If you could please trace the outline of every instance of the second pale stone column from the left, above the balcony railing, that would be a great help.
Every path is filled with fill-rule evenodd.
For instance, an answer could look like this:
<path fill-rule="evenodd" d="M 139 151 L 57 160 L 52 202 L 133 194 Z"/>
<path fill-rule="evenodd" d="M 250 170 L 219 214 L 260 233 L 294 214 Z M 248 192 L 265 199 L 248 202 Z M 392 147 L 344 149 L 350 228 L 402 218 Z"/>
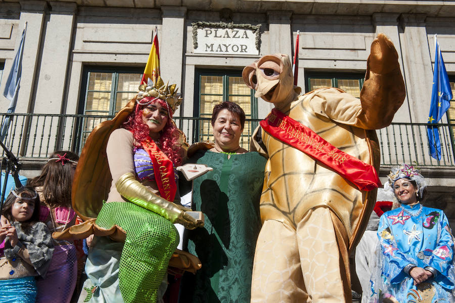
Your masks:
<path fill-rule="evenodd" d="M 65 113 L 65 84 L 77 6 L 53 1 L 51 7 L 33 112 L 60 114 Z"/>

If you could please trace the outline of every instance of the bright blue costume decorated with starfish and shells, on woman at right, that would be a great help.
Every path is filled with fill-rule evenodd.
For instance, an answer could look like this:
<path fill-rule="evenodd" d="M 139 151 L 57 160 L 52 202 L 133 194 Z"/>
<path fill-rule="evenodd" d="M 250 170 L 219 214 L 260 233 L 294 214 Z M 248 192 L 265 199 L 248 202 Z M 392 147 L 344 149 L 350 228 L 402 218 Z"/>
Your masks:
<path fill-rule="evenodd" d="M 453 238 L 442 210 L 420 203 L 385 212 L 379 223 L 378 263 L 370 302 L 453 302 Z M 405 267 L 431 267 L 436 277 L 415 286 Z M 408 266 L 408 268 L 411 266 Z"/>

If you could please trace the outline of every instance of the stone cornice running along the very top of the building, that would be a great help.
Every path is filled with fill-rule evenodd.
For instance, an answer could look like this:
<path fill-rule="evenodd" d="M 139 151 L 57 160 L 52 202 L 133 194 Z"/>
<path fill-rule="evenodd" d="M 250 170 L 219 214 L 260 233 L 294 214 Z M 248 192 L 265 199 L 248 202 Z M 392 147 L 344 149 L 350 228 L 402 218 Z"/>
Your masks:
<path fill-rule="evenodd" d="M 9 3 L 36 3 L 39 1 L 8 0 Z M 426 14 L 429 17 L 455 16 L 455 1 L 428 1 L 428 0 L 237 0 L 237 1 L 201 1 L 201 0 L 65 0 L 75 3 L 78 7 L 91 8 L 133 8 L 133 9 L 161 9 L 173 5 L 185 7 L 190 11 L 219 11 L 230 9 L 233 13 L 267 13 L 272 11 L 288 11 L 303 15 L 337 15 L 337 16 L 372 16 L 374 13 L 397 14 Z M 50 3 L 48 0 L 47 3 Z M 33 5 L 31 5 L 33 6 Z M 36 9 L 35 9 L 36 10 Z M 283 20 L 282 20 L 283 22 Z"/>

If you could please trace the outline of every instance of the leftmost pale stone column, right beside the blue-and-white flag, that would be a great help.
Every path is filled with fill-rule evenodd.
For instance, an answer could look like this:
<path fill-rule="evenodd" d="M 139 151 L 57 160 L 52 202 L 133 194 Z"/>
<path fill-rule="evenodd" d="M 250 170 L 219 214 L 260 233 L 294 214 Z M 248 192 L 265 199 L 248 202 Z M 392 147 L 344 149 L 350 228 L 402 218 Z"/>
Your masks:
<path fill-rule="evenodd" d="M 25 22 L 27 22 L 27 31 L 25 33 L 24 53 L 22 57 L 21 88 L 19 89 L 16 112 L 25 113 L 33 111 L 33 101 L 35 100 L 33 92 L 38 74 L 38 56 L 47 4 L 45 1 L 21 1 L 20 5 L 19 35 L 22 33 Z M 19 35 L 15 52 L 20 42 Z"/>

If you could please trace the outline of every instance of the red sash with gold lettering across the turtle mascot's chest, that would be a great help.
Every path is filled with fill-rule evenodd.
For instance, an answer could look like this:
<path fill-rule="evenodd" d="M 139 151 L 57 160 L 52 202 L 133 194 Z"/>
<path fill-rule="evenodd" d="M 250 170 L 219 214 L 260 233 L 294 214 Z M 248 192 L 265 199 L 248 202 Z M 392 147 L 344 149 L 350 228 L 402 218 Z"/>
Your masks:
<path fill-rule="evenodd" d="M 272 109 L 260 124 L 265 132 L 330 167 L 359 190 L 369 191 L 382 186 L 372 165 L 339 150 L 310 128 L 277 109 Z"/>

